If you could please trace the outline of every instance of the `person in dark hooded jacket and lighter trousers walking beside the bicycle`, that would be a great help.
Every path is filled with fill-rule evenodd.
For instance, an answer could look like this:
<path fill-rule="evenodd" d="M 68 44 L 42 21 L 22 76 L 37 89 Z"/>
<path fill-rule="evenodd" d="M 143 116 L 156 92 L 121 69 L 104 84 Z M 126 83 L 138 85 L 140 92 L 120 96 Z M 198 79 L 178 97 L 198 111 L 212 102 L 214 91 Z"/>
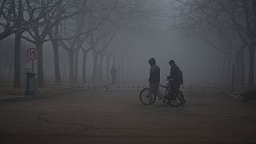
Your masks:
<path fill-rule="evenodd" d="M 160 82 L 160 68 L 156 64 L 154 58 L 150 58 L 149 60 L 150 64 L 150 90 L 149 90 L 149 98 L 150 103 L 149 106 L 153 106 L 153 94 L 156 94 L 159 98 L 162 99 L 162 102 L 164 103 L 164 106 L 166 105 L 166 98 L 162 95 L 162 93 L 159 90 L 159 82 Z"/>

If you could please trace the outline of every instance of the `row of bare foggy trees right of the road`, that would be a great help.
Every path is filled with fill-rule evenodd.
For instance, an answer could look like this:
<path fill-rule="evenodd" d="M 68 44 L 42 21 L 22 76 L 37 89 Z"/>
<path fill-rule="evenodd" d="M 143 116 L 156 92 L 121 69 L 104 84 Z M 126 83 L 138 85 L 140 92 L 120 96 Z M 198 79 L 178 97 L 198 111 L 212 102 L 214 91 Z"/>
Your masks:
<path fill-rule="evenodd" d="M 178 28 L 192 32 L 226 58 L 226 78 L 233 69 L 232 84 L 254 86 L 256 48 L 256 1 L 254 0 L 177 0 Z M 245 57 L 249 57 L 248 81 Z M 230 68 L 230 66 L 233 66 Z M 223 66 L 224 67 L 224 66 Z"/>

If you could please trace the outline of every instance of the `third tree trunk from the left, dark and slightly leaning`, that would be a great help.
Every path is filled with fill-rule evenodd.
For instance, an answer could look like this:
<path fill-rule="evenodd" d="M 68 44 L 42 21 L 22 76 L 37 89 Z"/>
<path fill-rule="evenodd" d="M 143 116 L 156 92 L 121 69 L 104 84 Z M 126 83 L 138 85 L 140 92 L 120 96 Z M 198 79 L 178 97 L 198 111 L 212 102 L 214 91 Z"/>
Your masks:
<path fill-rule="evenodd" d="M 52 35 L 50 38 L 53 38 Z M 55 83 L 61 83 L 62 78 L 61 78 L 61 72 L 59 69 L 59 56 L 58 56 L 58 41 L 52 40 L 51 41 L 53 48 L 54 48 L 54 74 L 55 74 Z"/>

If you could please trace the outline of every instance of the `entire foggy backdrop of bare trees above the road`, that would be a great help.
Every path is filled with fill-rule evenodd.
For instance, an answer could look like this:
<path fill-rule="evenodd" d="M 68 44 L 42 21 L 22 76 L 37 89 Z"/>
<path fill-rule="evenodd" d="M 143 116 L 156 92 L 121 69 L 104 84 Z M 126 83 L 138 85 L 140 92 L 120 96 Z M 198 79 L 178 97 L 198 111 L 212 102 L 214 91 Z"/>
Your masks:
<path fill-rule="evenodd" d="M 56 83 L 107 79 L 112 65 L 119 78 L 144 81 L 150 57 L 157 58 L 163 74 L 168 74 L 170 58 L 177 60 L 185 83 L 214 80 L 226 86 L 254 86 L 254 0 L 1 0 L 0 4 L 0 77 L 13 78 L 14 88 L 21 86 L 20 67 L 30 65 L 24 54 L 33 46 L 39 52 L 39 86 L 49 78 Z"/>

